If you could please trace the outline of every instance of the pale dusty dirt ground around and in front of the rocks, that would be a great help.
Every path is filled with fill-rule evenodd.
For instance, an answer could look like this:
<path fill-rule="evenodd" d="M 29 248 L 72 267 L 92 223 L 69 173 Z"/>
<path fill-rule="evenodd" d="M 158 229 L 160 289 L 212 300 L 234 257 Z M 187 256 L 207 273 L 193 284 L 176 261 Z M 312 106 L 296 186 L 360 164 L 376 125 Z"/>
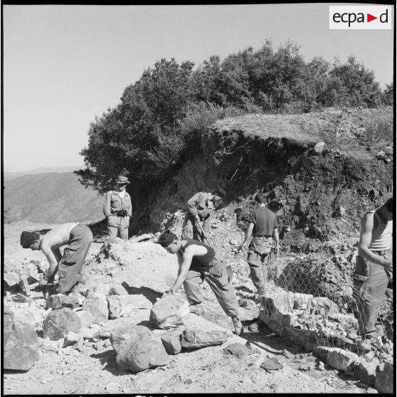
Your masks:
<path fill-rule="evenodd" d="M 92 255 L 98 249 L 97 244 L 93 244 Z M 127 262 L 125 258 L 128 258 Z M 129 294 L 136 297 L 136 310 L 132 314 L 109 320 L 102 329 L 111 331 L 120 324 L 147 324 L 153 302 L 171 286 L 176 272 L 176 257 L 150 242 L 125 243 L 125 256 L 118 261 L 91 261 L 85 269 L 87 286 L 125 281 L 129 285 Z M 191 314 L 188 327 L 225 327 L 231 332 L 230 319 L 205 284 L 203 289 L 203 312 L 201 316 Z M 246 298 L 249 293 L 240 289 L 238 295 Z M 16 312 L 28 308 L 43 311 L 40 292 L 35 296 L 31 303 L 8 303 Z M 320 370 L 318 359 L 312 354 L 258 325 L 258 309 L 254 305 L 252 309 L 242 309 L 242 312 L 243 338 L 231 334 L 228 342 L 221 346 L 183 352 L 173 356 L 166 366 L 139 374 L 117 368 L 112 346 L 100 351 L 72 351 L 72 354 L 65 354 L 67 349 L 41 351 L 40 359 L 29 371 L 4 373 L 4 394 L 365 393 L 363 388 L 356 386 L 358 382 L 327 366 Z M 41 334 L 40 327 L 36 330 Z M 160 333 L 159 330 L 154 331 L 155 335 Z M 245 343 L 247 340 L 258 349 L 254 354 L 243 359 L 223 354 L 223 348 L 228 344 Z M 268 373 L 255 366 L 255 362 L 265 356 L 277 356 L 285 364 L 284 368 Z"/>

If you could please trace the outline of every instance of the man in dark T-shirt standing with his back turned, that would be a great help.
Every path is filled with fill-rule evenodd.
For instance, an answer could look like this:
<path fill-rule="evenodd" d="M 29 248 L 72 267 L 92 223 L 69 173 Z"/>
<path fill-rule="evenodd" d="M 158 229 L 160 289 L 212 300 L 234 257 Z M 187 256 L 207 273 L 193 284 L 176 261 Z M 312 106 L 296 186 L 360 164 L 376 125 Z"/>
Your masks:
<path fill-rule="evenodd" d="M 240 245 L 240 250 L 245 250 L 252 234 L 253 239 L 248 247 L 247 261 L 250 266 L 253 285 L 257 288 L 258 294 L 262 296 L 265 292 L 265 284 L 268 282 L 268 264 L 273 238 L 275 254 L 278 255 L 279 252 L 278 223 L 275 213 L 265 206 L 265 194 L 256 194 L 255 201 L 257 208 L 251 211 L 248 216 L 247 230 L 245 231 L 244 241 Z"/>

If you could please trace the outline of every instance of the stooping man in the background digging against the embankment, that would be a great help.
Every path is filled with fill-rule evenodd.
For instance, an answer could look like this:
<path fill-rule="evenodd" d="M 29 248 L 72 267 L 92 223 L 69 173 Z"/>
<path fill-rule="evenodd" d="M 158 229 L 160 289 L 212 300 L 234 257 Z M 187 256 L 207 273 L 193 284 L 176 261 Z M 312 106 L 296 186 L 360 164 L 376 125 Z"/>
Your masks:
<path fill-rule="evenodd" d="M 215 211 L 221 201 L 222 198 L 220 196 L 204 191 L 200 191 L 191 197 L 187 202 L 188 208 L 182 226 L 182 237 L 193 237 L 194 240 L 203 242 L 204 236 L 199 223 L 203 222 L 203 231 L 208 235 L 211 231 L 213 211 Z"/>

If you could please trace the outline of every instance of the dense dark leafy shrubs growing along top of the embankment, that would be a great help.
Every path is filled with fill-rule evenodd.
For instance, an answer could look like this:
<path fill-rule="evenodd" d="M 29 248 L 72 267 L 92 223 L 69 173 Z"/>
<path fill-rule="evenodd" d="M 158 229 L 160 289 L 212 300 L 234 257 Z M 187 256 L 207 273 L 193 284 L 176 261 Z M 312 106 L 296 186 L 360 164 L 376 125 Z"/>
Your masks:
<path fill-rule="evenodd" d="M 77 171 L 85 186 L 102 192 L 124 173 L 135 196 L 142 195 L 145 186 L 158 185 L 179 165 L 186 139 L 219 118 L 393 100 L 393 85 L 381 92 L 374 73 L 354 57 L 344 64 L 321 57 L 306 62 L 290 41 L 275 50 L 267 40 L 258 51 L 249 47 L 224 60 L 213 55 L 193 67 L 190 61 L 159 60 L 125 88 L 120 104 L 91 123 L 81 152 L 86 169 Z M 368 134 L 379 129 L 386 131 L 379 122 Z"/>

